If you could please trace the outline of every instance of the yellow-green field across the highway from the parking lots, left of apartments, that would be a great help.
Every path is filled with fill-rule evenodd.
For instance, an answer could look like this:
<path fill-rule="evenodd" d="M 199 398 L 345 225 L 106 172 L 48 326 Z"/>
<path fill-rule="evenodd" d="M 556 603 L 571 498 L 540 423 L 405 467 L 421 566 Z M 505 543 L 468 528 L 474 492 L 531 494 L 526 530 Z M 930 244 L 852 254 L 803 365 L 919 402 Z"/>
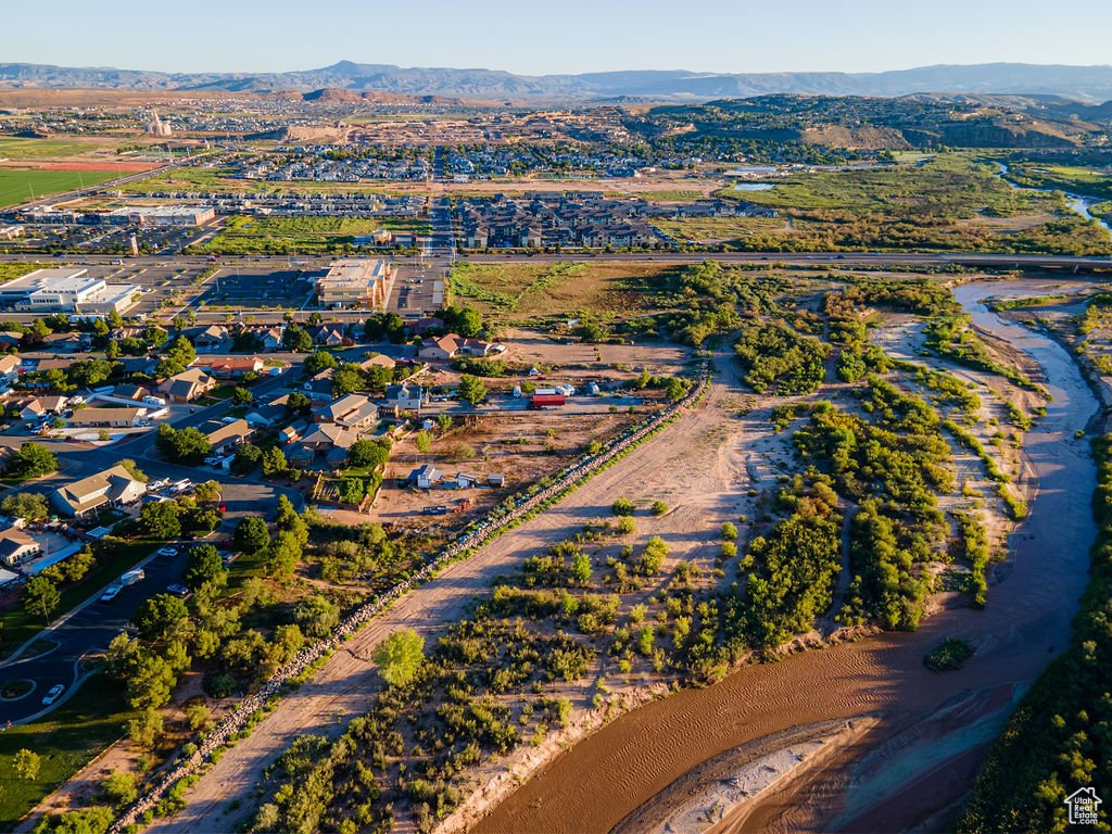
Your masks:
<path fill-rule="evenodd" d="M 384 228 L 421 234 L 428 231 L 428 224 L 375 217 L 234 217 L 200 248 L 230 255 L 328 252 L 350 247 L 356 237 Z"/>

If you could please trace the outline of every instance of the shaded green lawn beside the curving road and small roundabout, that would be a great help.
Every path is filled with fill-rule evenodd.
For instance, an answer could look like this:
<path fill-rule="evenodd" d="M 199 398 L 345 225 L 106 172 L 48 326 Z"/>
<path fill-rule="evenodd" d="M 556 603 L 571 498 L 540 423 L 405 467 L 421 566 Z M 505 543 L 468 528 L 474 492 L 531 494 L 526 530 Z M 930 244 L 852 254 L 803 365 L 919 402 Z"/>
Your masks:
<path fill-rule="evenodd" d="M 36 691 L 28 697 L 41 697 L 41 693 Z M 2 830 L 11 831 L 42 797 L 123 735 L 125 725 L 133 715 L 123 701 L 120 685 L 98 674 L 42 721 L 0 733 Z M 16 753 L 23 748 L 40 756 L 39 775 L 34 780 L 20 778 L 12 766 Z"/>

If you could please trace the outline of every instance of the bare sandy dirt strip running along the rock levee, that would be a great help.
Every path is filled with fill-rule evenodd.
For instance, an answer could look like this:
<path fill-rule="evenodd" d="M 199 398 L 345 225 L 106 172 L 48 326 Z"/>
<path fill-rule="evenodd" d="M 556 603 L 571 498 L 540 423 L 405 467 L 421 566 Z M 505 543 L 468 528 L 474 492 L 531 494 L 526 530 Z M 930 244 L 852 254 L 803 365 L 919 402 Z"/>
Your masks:
<path fill-rule="evenodd" d="M 348 721 L 365 713 L 378 688 L 374 646 L 401 626 L 428 635 L 459 618 L 468 603 L 499 574 L 514 569 L 532 553 L 567 537 L 568 530 L 610 517 L 618 495 L 634 500 L 656 498 L 673 504 L 657 532 L 673 555 L 714 552 L 718 525 L 747 508 L 741 485 L 748 483 L 741 449 L 765 418 L 738 418 L 733 363 L 723 353 L 717 364 L 726 383 L 717 381 L 704 404 L 617 465 L 596 475 L 555 507 L 507 533 L 466 562 L 443 570 L 395 604 L 385 615 L 344 644 L 312 678 L 281 699 L 277 709 L 201 777 L 186 794 L 186 808 L 153 823 L 158 834 L 208 834 L 231 831 L 252 810 L 254 788 L 274 757 L 301 733 L 339 735 Z M 717 377 L 716 377 L 717 378 Z M 731 433 L 724 420 L 737 421 Z M 724 447 L 724 440 L 729 443 Z M 668 500 L 669 496 L 674 497 Z M 728 503 L 724 503 L 728 502 Z"/>

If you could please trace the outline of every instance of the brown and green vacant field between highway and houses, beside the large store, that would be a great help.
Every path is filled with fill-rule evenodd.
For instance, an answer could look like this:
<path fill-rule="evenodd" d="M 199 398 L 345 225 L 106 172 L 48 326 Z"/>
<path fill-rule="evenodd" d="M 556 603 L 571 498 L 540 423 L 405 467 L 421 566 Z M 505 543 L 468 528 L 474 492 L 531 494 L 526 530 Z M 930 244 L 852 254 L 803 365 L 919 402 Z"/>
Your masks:
<path fill-rule="evenodd" d="M 451 298 L 499 324 L 548 317 L 613 319 L 672 306 L 674 267 L 653 264 L 466 264 L 451 269 Z"/>

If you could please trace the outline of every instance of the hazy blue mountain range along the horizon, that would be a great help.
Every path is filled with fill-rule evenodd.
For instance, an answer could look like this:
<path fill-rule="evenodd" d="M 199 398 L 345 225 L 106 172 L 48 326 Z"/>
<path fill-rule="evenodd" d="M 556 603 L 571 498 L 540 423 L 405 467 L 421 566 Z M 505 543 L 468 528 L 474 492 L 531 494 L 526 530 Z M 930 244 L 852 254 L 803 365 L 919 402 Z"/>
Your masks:
<path fill-rule="evenodd" d="M 636 98 L 706 101 L 768 93 L 906 96 L 920 92 L 1063 96 L 1112 99 L 1112 66 L 984 63 L 887 72 L 748 72 L 631 70 L 567 76 L 518 76 L 488 69 L 395 67 L 339 61 L 315 70 L 275 73 L 171 73 L 38 63 L 0 64 L 0 87 L 137 90 L 311 92 L 322 89 L 468 99 L 585 100 Z"/>

